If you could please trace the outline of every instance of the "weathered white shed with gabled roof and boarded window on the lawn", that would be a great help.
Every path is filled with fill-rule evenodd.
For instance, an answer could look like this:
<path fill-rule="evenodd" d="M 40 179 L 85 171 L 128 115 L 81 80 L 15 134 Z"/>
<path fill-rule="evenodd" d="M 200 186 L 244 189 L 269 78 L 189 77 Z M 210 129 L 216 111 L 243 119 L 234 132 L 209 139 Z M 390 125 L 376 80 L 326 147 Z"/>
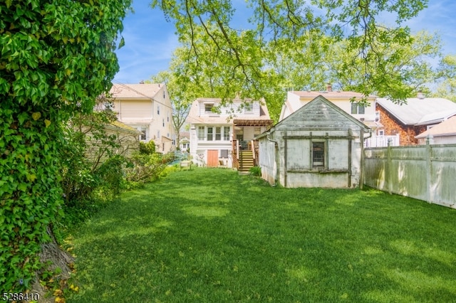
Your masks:
<path fill-rule="evenodd" d="M 370 129 L 335 103 L 319 95 L 257 137 L 263 179 L 284 187 L 361 186 Z"/>

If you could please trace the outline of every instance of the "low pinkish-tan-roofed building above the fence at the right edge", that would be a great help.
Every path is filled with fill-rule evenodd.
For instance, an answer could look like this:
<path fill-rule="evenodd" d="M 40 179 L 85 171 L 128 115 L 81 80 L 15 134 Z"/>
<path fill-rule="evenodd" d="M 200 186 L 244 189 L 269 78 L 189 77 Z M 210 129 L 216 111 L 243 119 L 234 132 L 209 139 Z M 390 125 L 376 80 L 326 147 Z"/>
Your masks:
<path fill-rule="evenodd" d="M 456 116 L 440 122 L 415 138 L 418 139 L 418 144 L 426 144 L 427 138 L 430 144 L 456 144 Z"/>

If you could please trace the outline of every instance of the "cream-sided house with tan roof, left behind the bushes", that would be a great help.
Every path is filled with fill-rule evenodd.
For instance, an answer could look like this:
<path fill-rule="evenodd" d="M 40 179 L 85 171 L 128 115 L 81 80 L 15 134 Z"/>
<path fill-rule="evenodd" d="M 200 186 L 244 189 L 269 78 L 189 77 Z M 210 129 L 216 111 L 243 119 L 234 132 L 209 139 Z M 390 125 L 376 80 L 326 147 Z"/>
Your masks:
<path fill-rule="evenodd" d="M 110 90 L 120 122 L 138 129 L 141 142 L 155 142 L 156 151 L 175 149 L 172 107 L 165 84 L 115 84 Z"/>

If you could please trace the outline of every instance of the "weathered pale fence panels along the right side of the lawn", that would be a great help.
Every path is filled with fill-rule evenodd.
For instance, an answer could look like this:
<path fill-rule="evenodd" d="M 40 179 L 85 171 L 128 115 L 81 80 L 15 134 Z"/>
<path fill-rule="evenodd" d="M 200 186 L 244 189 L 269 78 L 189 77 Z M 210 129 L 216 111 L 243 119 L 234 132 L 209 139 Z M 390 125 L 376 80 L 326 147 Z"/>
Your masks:
<path fill-rule="evenodd" d="M 456 208 L 456 144 L 365 149 L 364 184 Z"/>

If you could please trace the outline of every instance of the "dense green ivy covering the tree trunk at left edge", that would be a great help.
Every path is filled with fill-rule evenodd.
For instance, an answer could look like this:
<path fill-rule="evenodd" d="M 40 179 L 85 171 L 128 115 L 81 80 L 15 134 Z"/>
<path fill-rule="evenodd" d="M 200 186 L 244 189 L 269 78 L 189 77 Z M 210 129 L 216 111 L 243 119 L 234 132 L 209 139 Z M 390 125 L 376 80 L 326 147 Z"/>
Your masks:
<path fill-rule="evenodd" d="M 118 71 L 131 0 L 0 2 L 0 290 L 29 289 L 62 202 L 61 125 Z"/>

